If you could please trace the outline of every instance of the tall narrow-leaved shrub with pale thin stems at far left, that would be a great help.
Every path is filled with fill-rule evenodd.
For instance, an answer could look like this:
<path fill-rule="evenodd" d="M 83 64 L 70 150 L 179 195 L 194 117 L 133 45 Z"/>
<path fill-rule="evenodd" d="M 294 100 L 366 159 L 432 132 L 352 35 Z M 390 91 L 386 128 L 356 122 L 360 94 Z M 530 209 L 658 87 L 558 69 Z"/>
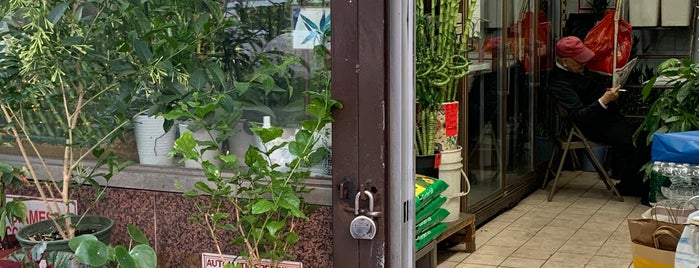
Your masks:
<path fill-rule="evenodd" d="M 2 33 L 5 47 L 0 53 L 0 112 L 22 154 L 27 177 L 49 212 L 47 222 L 36 224 L 49 223 L 61 243 L 88 231 L 84 228 L 88 219 L 100 216 L 86 214 L 108 188 L 100 181 L 108 185 L 131 164 L 109 150 L 134 115 L 129 97 L 142 71 L 125 49 L 130 47 L 129 31 L 118 23 L 131 19 L 122 13 L 128 9 L 116 4 L 20 0 L 3 6 L 8 27 Z M 125 7 L 131 2 L 119 4 Z M 41 135 L 55 137 L 62 147 L 59 175 L 51 171 L 37 146 Z M 92 203 L 84 214 L 72 215 L 75 189 L 83 185 L 95 186 L 96 195 L 78 197 Z M 25 229 L 31 226 L 17 234 L 18 240 L 41 244 L 29 239 Z M 99 228 L 109 232 L 110 227 Z M 97 228 L 91 225 L 89 231 Z"/>

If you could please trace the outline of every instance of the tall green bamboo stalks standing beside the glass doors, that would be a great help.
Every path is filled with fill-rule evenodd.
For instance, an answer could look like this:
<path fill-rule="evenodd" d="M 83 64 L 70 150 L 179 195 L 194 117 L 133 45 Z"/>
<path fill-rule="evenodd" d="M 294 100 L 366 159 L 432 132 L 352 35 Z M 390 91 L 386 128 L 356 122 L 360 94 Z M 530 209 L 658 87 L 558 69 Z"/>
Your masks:
<path fill-rule="evenodd" d="M 477 0 L 467 0 L 473 7 Z M 428 2 L 429 7 L 425 6 Z M 456 100 L 459 80 L 468 74 L 466 40 L 471 34 L 473 8 L 466 14 L 461 39 L 457 23 L 461 0 L 417 1 L 416 6 L 416 152 L 435 151 L 436 117 L 444 102 Z M 439 6 L 438 6 L 439 5 Z"/>

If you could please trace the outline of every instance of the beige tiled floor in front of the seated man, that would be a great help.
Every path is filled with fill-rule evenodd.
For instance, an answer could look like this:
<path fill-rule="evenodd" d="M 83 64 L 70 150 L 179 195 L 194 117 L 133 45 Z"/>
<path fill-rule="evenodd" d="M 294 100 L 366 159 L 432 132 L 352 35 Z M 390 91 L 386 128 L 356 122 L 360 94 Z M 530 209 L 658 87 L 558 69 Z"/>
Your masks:
<path fill-rule="evenodd" d="M 619 202 L 598 178 L 564 171 L 552 202 L 548 188 L 532 193 L 476 230 L 474 253 L 440 250 L 438 267 L 633 267 L 626 219 L 648 207 Z"/>

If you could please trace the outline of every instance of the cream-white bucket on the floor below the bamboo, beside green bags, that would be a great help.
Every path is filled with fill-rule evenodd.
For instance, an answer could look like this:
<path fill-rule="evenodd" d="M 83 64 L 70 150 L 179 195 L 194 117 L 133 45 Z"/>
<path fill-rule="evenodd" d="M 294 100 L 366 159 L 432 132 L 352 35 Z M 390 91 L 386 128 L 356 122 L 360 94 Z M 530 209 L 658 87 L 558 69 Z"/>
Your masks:
<path fill-rule="evenodd" d="M 451 222 L 459 219 L 459 214 L 461 213 L 461 198 L 466 196 L 468 192 L 461 192 L 461 176 L 464 176 L 466 184 L 468 185 L 468 178 L 463 172 L 463 164 L 461 163 L 461 150 L 462 147 L 459 146 L 456 150 L 442 151 L 442 161 L 439 165 L 439 179 L 443 180 L 449 187 L 442 192 L 442 195 L 447 197 L 447 202 L 442 205 L 442 208 L 449 211 L 449 216 L 447 216 L 443 221 Z M 468 185 L 470 189 L 470 185 Z"/>

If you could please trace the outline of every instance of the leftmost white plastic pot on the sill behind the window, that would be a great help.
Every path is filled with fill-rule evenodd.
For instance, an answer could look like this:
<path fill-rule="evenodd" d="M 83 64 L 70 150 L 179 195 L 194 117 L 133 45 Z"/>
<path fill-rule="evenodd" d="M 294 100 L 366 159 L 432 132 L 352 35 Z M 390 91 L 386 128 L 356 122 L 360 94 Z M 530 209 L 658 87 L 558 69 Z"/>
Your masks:
<path fill-rule="evenodd" d="M 175 142 L 175 129 L 163 130 L 165 119 L 139 115 L 134 118 L 134 135 L 138 161 L 143 165 L 174 166 L 175 161 L 167 154 Z"/>

